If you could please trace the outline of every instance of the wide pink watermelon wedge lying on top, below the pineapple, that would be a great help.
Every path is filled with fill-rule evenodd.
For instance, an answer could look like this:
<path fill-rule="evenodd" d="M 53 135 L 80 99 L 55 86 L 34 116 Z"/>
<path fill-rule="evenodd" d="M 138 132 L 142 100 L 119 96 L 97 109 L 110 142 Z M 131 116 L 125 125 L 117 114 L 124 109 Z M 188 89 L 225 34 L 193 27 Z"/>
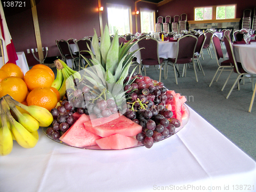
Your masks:
<path fill-rule="evenodd" d="M 94 121 L 97 121 L 97 126 L 93 126 Z M 124 136 L 135 136 L 142 131 L 141 125 L 119 113 L 114 113 L 109 117 L 87 121 L 84 123 L 84 127 L 86 130 L 99 135 L 100 137 L 108 137 L 117 133 Z"/>

